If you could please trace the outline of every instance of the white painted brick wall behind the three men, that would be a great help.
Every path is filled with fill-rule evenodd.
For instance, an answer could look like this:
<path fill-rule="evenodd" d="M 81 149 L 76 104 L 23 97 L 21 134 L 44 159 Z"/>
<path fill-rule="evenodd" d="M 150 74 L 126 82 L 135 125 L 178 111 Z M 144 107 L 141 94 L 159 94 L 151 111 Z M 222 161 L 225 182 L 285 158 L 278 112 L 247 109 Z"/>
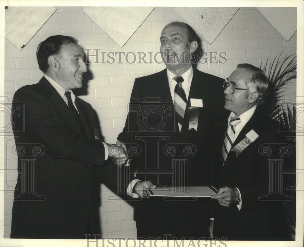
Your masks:
<path fill-rule="evenodd" d="M 105 52 L 153 52 L 159 51 L 159 37 L 162 28 L 171 21 L 184 21 L 174 11 L 174 7 L 156 7 L 133 34 L 124 47 L 119 47 L 108 35 L 84 14 L 82 7 L 57 7 L 57 11 L 39 30 L 32 40 L 19 51 L 9 40 L 5 39 L 5 95 L 12 100 L 16 89 L 23 85 L 37 83 L 42 72 L 36 63 L 37 45 L 50 35 L 69 35 L 79 40 L 84 49 L 91 49 L 95 54 L 99 49 L 98 60 L 101 62 L 101 53 Z M 283 49 L 284 54 L 296 52 L 296 35 L 286 41 L 274 27 L 260 14 L 256 8 L 240 8 L 226 25 L 216 40 L 207 45 L 201 42 L 205 52 L 226 52 L 227 62 L 198 64 L 198 69 L 210 74 L 226 78 L 236 68 L 238 63 L 252 63 L 259 65 L 268 56 L 275 57 Z M 94 53 L 93 53 L 94 52 Z M 207 54 L 207 57 L 209 54 Z M 206 57 L 206 56 L 205 56 Z M 116 58 L 118 58 L 116 56 Z M 129 57 L 131 60 L 132 56 Z M 88 95 L 82 99 L 92 104 L 98 112 L 102 134 L 105 141 L 116 142 L 117 135 L 122 131 L 129 103 L 134 79 L 148 75 L 165 68 L 164 64 L 128 64 L 122 56 L 120 64 L 94 63 L 95 57 L 89 57 L 89 70 L 93 79 L 88 83 Z M 160 56 L 158 56 L 160 61 Z M 208 60 L 210 62 L 210 60 Z M 295 96 L 296 84 L 292 83 L 285 95 Z M 6 118 L 8 119 L 8 118 Z M 9 121 L 9 120 L 8 120 Z M 6 140 L 12 137 L 6 137 Z M 5 142 L 6 143 L 6 142 Z M 9 141 L 5 147 L 5 165 L 8 169 L 16 169 L 17 160 L 11 154 Z M 6 183 L 6 182 L 5 182 Z M 16 184 L 16 173 L 7 176 L 4 196 L 4 237 L 9 237 L 12 190 Z M 102 206 L 100 218 L 102 237 L 134 237 L 136 227 L 133 221 L 133 208 L 123 200 L 108 200 L 114 194 L 106 187 L 101 186 Z"/>

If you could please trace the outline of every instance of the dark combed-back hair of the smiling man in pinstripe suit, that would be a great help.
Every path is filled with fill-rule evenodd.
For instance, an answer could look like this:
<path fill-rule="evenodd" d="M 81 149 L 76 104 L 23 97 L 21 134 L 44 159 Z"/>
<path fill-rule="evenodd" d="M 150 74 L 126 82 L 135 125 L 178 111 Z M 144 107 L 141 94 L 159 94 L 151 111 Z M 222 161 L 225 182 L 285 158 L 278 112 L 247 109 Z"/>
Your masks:
<path fill-rule="evenodd" d="M 74 37 L 63 35 L 50 36 L 46 40 L 42 41 L 38 45 L 36 52 L 40 70 L 46 72 L 50 68 L 47 61 L 49 56 L 60 54 L 61 46 L 69 43 L 78 44 L 78 41 Z"/>

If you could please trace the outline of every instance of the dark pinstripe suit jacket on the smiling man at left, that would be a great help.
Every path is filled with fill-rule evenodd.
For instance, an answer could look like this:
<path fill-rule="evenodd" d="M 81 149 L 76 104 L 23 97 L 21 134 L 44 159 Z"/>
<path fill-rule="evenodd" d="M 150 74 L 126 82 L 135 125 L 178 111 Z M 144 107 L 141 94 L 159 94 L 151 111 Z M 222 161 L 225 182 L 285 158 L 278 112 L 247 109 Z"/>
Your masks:
<path fill-rule="evenodd" d="M 105 183 L 116 184 L 116 166 L 105 165 L 104 145 L 95 141 L 99 122 L 92 106 L 78 97 L 75 104 L 85 134 L 44 77 L 15 93 L 12 123 L 19 174 L 11 238 L 85 238 L 90 225 L 88 233 L 100 233 L 96 167 Z"/>

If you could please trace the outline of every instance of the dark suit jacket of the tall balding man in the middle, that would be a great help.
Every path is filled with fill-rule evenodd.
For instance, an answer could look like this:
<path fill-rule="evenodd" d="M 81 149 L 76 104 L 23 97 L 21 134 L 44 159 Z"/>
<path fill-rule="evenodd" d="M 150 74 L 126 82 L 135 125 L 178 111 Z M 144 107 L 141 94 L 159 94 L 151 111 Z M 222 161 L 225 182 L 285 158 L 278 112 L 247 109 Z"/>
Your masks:
<path fill-rule="evenodd" d="M 132 168 L 133 171 L 137 169 L 136 176 L 139 179 L 150 180 L 157 186 L 180 185 L 181 181 L 184 181 L 184 185 L 187 181 L 188 186 L 210 185 L 208 164 L 212 128 L 216 119 L 223 117 L 225 112 L 222 81 L 219 77 L 194 69 L 187 110 L 180 132 L 175 121 L 167 70 L 135 79 L 126 126 L 119 134 L 118 140 L 140 145 L 141 153 L 133 155 L 132 158 Z M 188 107 L 191 98 L 202 99 L 203 102 L 203 107 L 198 109 L 197 131 L 193 128 L 188 130 Z M 186 146 L 189 148 L 185 149 Z M 173 153 L 170 147 L 174 149 Z M 186 172 L 177 179 L 174 176 L 174 172 L 177 171 L 172 163 L 174 160 L 183 162 L 185 159 Z M 184 215 L 186 220 L 195 221 L 192 224 L 193 228 L 196 228 L 196 220 L 200 221 L 201 216 L 208 218 L 206 203 L 168 202 L 150 198 L 134 205 L 134 220 L 137 223 L 154 222 L 166 217 L 167 222 L 174 224 L 174 219 L 168 217 L 168 211 L 174 212 L 173 214 L 178 217 Z M 191 227 L 185 224 L 182 230 L 185 228 Z"/>

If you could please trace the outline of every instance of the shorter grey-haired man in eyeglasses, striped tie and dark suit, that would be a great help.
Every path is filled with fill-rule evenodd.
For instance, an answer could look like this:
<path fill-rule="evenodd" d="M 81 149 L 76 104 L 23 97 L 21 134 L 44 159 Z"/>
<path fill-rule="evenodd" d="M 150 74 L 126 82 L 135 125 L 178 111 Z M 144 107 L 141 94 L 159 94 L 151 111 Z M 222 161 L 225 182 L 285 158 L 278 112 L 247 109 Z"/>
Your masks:
<path fill-rule="evenodd" d="M 214 131 L 219 192 L 211 197 L 218 202 L 213 236 L 288 240 L 281 201 L 259 200 L 268 195 L 270 181 L 268 157 L 261 155 L 259 148 L 262 144 L 286 143 L 278 133 L 278 123 L 259 109 L 268 91 L 268 79 L 261 69 L 238 64 L 223 86 L 224 107 L 231 113 L 216 124 Z M 272 155 L 277 155 L 276 151 Z M 286 168 L 287 162 L 283 164 Z"/>

